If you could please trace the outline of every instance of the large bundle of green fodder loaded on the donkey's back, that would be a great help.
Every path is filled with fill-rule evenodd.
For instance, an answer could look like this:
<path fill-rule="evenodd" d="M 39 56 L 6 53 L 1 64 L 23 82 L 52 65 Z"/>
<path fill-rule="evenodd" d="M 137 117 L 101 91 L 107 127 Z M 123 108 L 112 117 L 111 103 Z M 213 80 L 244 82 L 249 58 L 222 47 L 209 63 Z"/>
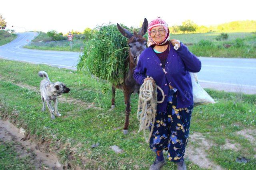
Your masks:
<path fill-rule="evenodd" d="M 78 70 L 88 70 L 94 76 L 114 84 L 122 83 L 127 70 L 124 66 L 128 56 L 127 40 L 116 24 L 98 27 L 98 31 L 94 31 L 91 39 L 85 42 Z"/>

